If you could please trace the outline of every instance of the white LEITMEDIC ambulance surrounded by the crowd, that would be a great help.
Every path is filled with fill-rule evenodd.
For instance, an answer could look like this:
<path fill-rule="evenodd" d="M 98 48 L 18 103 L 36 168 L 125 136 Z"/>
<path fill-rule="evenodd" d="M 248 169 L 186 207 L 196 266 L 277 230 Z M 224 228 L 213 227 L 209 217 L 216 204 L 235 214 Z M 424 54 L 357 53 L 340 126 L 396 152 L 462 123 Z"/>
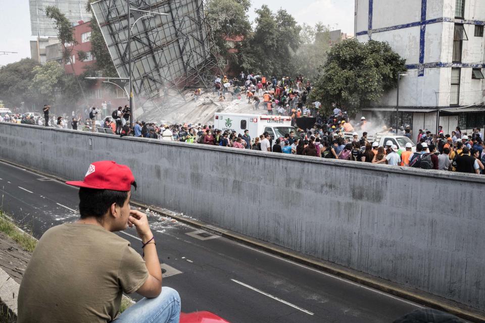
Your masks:
<path fill-rule="evenodd" d="M 214 116 L 214 129 L 235 131 L 237 134 L 244 134 L 244 130 L 248 129 L 252 139 L 266 131 L 272 139 L 283 138 L 285 134 L 293 131 L 294 137 L 300 139 L 297 129 L 292 127 L 292 117 L 221 112 Z"/>

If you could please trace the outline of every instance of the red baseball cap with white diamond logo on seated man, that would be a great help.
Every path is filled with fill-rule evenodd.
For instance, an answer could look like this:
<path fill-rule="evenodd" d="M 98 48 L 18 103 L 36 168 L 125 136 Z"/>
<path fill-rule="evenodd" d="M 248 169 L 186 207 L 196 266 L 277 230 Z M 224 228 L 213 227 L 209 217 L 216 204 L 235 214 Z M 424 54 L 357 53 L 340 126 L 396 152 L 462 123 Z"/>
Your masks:
<path fill-rule="evenodd" d="M 112 160 L 95 161 L 87 170 L 84 181 L 69 181 L 68 185 L 99 190 L 131 190 L 135 177 L 128 166 L 116 164 Z"/>

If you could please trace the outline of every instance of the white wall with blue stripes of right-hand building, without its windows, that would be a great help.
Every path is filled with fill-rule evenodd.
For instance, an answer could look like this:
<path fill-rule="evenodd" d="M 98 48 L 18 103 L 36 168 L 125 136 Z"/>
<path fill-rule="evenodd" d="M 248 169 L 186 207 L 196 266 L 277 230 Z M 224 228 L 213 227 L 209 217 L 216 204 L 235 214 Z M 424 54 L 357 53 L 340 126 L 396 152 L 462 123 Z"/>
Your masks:
<path fill-rule="evenodd" d="M 400 106 L 423 107 L 483 102 L 485 82 L 472 79 L 472 69 L 485 67 L 485 37 L 475 26 L 485 24 L 485 3 L 465 1 L 463 18 L 455 17 L 456 0 L 357 0 L 356 35 L 359 41 L 387 41 L 406 59 L 407 76 L 400 82 Z M 467 40 L 461 59 L 453 56 L 455 25 L 463 25 Z M 453 98 L 452 68 L 460 69 L 459 99 Z M 456 81 L 456 77 L 455 77 Z M 374 106 L 395 106 L 396 90 Z"/>

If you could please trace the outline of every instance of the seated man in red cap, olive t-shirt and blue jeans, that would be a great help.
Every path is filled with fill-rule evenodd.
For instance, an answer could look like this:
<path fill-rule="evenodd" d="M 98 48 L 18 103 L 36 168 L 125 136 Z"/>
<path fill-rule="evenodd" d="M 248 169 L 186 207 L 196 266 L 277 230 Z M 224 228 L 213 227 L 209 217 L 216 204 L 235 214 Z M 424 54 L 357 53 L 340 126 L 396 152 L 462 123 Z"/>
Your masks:
<path fill-rule="evenodd" d="M 162 287 L 146 214 L 130 210 L 133 174 L 114 161 L 89 166 L 79 186 L 80 219 L 47 230 L 27 266 L 18 322 L 178 323 L 180 297 Z M 135 227 L 143 258 L 113 232 Z M 122 293 L 144 296 L 118 317 Z"/>

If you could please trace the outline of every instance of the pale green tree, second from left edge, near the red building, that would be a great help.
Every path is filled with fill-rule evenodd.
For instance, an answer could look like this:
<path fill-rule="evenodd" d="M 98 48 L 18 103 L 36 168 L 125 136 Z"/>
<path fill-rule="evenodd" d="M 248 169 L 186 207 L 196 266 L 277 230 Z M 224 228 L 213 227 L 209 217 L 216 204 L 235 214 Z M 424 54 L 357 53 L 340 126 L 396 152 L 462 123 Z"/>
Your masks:
<path fill-rule="evenodd" d="M 61 90 L 64 69 L 56 62 L 47 62 L 44 65 L 35 66 L 33 72 L 34 77 L 29 90 L 39 99 L 55 102 Z"/>

